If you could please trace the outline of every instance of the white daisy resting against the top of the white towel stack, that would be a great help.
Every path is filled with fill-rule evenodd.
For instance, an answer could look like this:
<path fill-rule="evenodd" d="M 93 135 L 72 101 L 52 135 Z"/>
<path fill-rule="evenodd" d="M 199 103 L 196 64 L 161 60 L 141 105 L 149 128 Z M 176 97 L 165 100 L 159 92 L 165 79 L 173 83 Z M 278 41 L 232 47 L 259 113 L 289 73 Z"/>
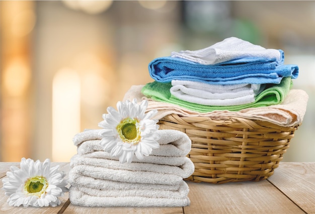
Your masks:
<path fill-rule="evenodd" d="M 107 108 L 108 114 L 103 114 L 104 121 L 99 123 L 103 128 L 100 132 L 102 140 L 100 144 L 111 156 L 119 157 L 120 163 L 132 162 L 134 154 L 138 159 L 151 154 L 152 149 L 157 149 L 160 139 L 156 130 L 158 120 L 151 120 L 157 111 L 144 113 L 147 108 L 147 100 L 137 104 L 126 100 L 117 102 L 116 111 L 112 107 Z"/>

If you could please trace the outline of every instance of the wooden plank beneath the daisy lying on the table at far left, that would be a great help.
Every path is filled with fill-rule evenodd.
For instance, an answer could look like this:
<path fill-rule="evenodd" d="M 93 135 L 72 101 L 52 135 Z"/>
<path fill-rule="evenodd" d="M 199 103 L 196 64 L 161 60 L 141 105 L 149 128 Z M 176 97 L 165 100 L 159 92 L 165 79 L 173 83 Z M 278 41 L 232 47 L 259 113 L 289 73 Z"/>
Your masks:
<path fill-rule="evenodd" d="M 10 166 L 14 164 L 17 166 L 20 165 L 20 163 L 0 163 L 1 166 L 0 168 L 10 170 Z M 52 166 L 60 165 L 60 170 L 66 173 L 69 171 L 69 163 L 51 163 L 51 165 Z M 61 204 L 56 207 L 48 206 L 40 208 L 36 207 L 24 208 L 23 206 L 19 207 L 9 206 L 7 203 L 7 199 L 9 196 L 5 195 L 5 191 L 1 189 L 3 187 L 2 179 L 3 178 L 0 179 L 0 213 L 57 213 L 62 208 L 64 203 L 67 201 L 69 196 L 68 193 L 66 192 L 63 197 L 60 197 L 59 199 L 61 200 Z"/>

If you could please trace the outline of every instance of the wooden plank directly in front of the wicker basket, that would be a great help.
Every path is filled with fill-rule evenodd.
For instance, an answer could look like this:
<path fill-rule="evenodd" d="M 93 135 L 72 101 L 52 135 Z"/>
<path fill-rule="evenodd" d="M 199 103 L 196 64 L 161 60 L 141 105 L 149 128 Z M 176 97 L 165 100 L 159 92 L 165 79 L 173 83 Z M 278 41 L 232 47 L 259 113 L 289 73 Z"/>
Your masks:
<path fill-rule="evenodd" d="M 184 213 L 304 213 L 267 180 L 188 185 Z"/>

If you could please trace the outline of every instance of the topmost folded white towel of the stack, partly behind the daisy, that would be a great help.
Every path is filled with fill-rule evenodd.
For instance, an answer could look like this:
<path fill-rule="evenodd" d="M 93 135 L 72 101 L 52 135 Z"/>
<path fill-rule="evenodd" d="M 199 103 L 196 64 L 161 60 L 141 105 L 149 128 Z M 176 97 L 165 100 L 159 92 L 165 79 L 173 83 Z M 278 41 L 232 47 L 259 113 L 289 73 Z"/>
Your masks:
<path fill-rule="evenodd" d="M 73 137 L 73 143 L 75 146 L 79 146 L 85 141 L 89 140 L 101 140 L 102 137 L 99 135 L 100 130 L 86 130 L 78 133 Z M 157 140 L 160 144 L 159 149 L 153 149 L 151 155 L 155 156 L 186 156 L 191 149 L 191 140 L 189 137 L 180 131 L 176 130 L 157 130 L 161 138 Z M 78 148 L 78 153 L 86 154 L 94 151 L 102 151 L 101 146 L 93 145 L 89 148 L 89 145 Z M 134 158 L 135 161 L 137 158 Z"/>

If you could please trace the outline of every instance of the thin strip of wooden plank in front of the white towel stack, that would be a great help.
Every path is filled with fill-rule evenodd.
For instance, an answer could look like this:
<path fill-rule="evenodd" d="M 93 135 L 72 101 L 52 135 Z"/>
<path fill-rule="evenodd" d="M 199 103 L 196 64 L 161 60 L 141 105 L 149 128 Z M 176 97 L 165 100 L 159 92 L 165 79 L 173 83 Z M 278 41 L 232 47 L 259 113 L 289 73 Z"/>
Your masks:
<path fill-rule="evenodd" d="M 69 204 L 63 213 L 183 213 L 183 207 L 87 207 Z"/>

